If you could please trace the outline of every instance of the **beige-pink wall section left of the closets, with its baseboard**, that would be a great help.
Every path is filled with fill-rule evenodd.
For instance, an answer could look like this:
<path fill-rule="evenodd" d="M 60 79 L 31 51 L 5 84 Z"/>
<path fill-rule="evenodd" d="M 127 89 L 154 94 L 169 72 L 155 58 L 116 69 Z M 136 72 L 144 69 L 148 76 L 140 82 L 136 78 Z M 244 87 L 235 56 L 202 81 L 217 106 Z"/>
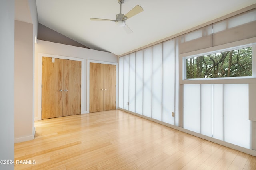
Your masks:
<path fill-rule="evenodd" d="M 34 139 L 34 42 L 38 17 L 35 0 L 15 0 L 14 142 Z"/>

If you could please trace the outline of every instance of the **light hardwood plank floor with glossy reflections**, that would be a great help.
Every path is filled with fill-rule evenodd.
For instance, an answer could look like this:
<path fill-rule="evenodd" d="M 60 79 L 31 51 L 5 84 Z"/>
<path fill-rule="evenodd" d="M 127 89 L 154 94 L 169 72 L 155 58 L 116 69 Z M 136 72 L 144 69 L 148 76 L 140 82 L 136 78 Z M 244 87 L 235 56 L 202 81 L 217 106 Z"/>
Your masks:
<path fill-rule="evenodd" d="M 44 119 L 35 127 L 34 140 L 15 144 L 15 162 L 27 161 L 15 170 L 256 169 L 254 156 L 120 110 Z"/>

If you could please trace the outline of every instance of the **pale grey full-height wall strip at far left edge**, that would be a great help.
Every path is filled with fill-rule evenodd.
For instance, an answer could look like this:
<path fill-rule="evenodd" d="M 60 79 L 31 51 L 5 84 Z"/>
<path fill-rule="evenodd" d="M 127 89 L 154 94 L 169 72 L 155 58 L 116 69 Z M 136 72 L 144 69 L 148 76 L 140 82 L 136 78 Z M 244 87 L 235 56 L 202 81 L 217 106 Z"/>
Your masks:
<path fill-rule="evenodd" d="M 0 160 L 14 160 L 14 0 L 0 1 L 0 23 Z"/>

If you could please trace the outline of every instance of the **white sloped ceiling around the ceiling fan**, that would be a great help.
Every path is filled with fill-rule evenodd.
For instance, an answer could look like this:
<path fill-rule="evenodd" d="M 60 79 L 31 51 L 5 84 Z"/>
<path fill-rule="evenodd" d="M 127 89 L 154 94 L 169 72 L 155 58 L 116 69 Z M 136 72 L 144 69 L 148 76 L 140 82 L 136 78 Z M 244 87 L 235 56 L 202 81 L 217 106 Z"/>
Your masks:
<path fill-rule="evenodd" d="M 120 12 L 117 0 L 36 0 L 38 22 L 96 50 L 122 55 L 150 43 L 255 4 L 255 0 L 126 0 L 122 13 L 144 11 L 126 20 L 133 33 L 110 21 Z"/>

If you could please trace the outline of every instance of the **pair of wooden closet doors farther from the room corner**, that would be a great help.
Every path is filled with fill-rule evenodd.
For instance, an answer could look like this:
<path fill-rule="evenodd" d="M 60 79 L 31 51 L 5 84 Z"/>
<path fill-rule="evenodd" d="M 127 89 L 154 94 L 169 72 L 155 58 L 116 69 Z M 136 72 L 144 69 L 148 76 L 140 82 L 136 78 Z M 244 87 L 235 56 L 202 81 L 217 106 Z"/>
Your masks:
<path fill-rule="evenodd" d="M 81 114 L 81 61 L 42 57 L 42 119 Z"/>

